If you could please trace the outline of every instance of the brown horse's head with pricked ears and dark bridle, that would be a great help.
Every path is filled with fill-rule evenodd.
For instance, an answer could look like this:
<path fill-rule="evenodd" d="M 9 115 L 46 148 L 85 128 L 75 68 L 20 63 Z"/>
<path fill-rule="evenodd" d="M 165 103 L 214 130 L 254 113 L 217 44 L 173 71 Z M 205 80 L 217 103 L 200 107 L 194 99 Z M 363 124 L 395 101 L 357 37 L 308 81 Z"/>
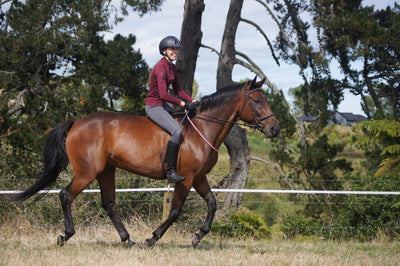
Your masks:
<path fill-rule="evenodd" d="M 255 125 L 267 138 L 272 138 L 279 133 L 279 121 L 260 89 L 265 82 L 265 78 L 259 82 L 256 80 L 257 77 L 245 83 L 245 99 L 240 111 L 240 119 Z"/>

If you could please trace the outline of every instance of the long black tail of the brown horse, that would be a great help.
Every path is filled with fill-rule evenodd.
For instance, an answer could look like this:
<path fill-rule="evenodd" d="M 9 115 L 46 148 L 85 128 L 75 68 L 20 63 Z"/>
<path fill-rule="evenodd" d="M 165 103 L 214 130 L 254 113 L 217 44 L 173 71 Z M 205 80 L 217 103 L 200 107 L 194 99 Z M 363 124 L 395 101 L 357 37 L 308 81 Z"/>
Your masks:
<path fill-rule="evenodd" d="M 40 190 L 54 185 L 60 172 L 68 165 L 65 137 L 66 132 L 73 124 L 74 121 L 65 121 L 49 133 L 43 150 L 44 171 L 37 174 L 36 176 L 39 176 L 39 180 L 25 191 L 18 193 L 13 198 L 14 201 L 26 200 Z"/>

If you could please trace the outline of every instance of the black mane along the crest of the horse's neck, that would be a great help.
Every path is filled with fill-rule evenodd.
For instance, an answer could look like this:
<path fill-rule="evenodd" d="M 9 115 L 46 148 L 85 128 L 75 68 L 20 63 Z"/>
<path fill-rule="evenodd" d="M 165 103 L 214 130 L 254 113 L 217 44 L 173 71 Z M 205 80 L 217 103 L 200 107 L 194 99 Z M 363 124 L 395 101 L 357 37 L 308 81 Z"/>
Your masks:
<path fill-rule="evenodd" d="M 243 88 L 244 83 L 239 83 L 235 84 L 232 86 L 227 86 L 222 89 L 219 89 L 217 92 L 206 95 L 200 99 L 200 112 L 207 110 L 207 109 L 212 109 L 214 107 L 219 107 L 221 104 L 223 104 L 225 101 L 229 101 L 232 99 L 232 97 L 236 96 L 238 91 Z"/>

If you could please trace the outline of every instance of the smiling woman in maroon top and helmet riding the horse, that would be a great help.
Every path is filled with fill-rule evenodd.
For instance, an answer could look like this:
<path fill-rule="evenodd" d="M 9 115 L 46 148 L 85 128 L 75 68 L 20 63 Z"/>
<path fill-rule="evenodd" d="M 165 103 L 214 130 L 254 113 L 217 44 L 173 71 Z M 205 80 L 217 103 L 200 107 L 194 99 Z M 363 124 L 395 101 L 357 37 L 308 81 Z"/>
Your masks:
<path fill-rule="evenodd" d="M 176 160 L 183 134 L 171 115 L 171 112 L 175 110 L 168 103 L 182 106 L 189 112 L 196 110 L 195 100 L 181 89 L 176 66 L 173 64 L 179 55 L 180 47 L 182 46 L 179 39 L 174 36 L 167 36 L 161 40 L 159 50 L 163 58 L 154 66 L 150 74 L 150 90 L 147 93 L 145 107 L 147 116 L 171 135 L 166 152 L 168 183 L 177 183 L 186 179 L 176 173 Z M 168 93 L 170 85 L 180 99 Z"/>

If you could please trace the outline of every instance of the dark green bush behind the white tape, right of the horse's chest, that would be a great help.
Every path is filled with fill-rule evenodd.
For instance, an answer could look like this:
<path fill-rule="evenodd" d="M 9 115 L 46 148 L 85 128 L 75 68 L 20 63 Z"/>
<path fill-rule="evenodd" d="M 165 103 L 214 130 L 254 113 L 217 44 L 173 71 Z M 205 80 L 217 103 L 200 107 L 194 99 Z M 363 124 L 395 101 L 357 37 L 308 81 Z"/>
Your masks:
<path fill-rule="evenodd" d="M 339 181 L 339 171 L 352 171 L 351 163 L 346 159 L 336 158 L 343 151 L 343 144 L 329 144 L 327 135 L 323 134 L 313 143 L 306 141 L 298 145 L 298 153 L 288 152 L 289 149 L 277 149 L 272 152 L 274 160 L 279 160 L 282 167 L 289 169 L 287 176 L 281 177 L 281 185 L 290 189 L 306 190 L 340 190 L 343 188 Z M 289 150 L 290 151 L 290 150 Z M 291 196 L 292 200 L 300 198 Z M 332 217 L 337 206 L 331 205 L 340 199 L 338 196 L 315 195 L 308 197 L 304 213 L 311 217 Z M 315 203 L 324 203 L 316 205 Z M 318 206 L 318 207 L 316 207 Z"/>

